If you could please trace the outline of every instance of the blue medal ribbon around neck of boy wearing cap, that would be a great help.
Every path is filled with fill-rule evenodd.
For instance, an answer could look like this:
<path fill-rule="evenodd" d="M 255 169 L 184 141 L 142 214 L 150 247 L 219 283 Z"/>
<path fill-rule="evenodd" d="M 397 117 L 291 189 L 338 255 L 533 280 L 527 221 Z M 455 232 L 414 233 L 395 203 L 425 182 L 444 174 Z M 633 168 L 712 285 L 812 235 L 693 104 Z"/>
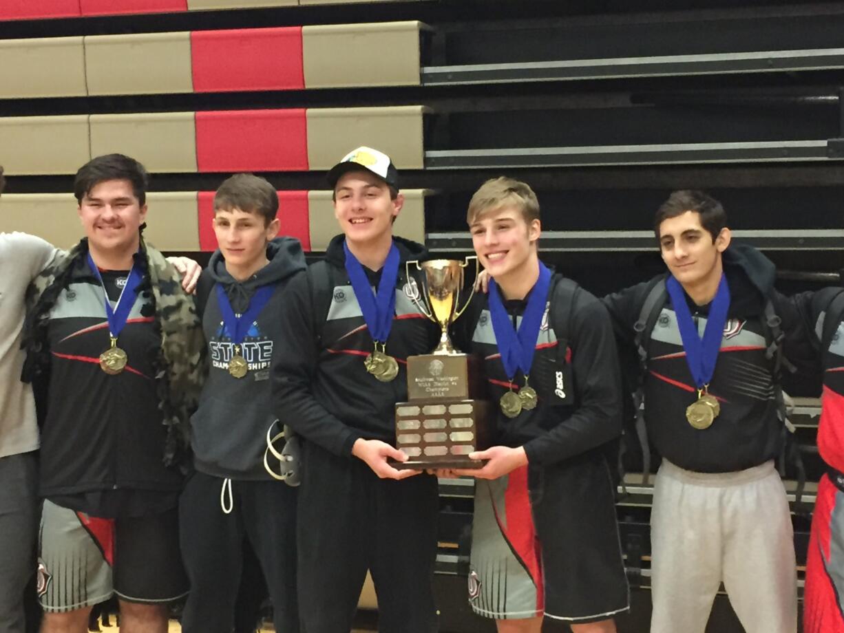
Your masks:
<path fill-rule="evenodd" d="M 346 252 L 346 272 L 352 283 L 354 296 L 360 305 L 366 327 L 369 328 L 372 340 L 376 343 L 387 343 L 392 328 L 392 316 L 396 310 L 396 281 L 398 279 L 398 247 L 393 243 L 387 254 L 384 268 L 381 268 L 381 281 L 378 282 L 378 292 L 373 295 L 369 279 L 366 279 L 364 267 L 354 257 L 349 246 L 344 241 Z"/>

